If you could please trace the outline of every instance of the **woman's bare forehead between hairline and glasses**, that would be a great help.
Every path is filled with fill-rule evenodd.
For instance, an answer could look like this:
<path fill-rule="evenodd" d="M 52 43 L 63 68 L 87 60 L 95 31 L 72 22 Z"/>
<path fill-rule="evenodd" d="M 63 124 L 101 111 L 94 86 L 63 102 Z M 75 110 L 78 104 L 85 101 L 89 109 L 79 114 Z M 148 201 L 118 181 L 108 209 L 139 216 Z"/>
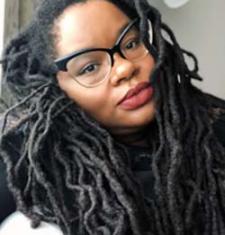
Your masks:
<path fill-rule="evenodd" d="M 55 24 L 58 56 L 92 47 L 111 47 L 129 18 L 113 3 L 89 0 L 64 10 Z"/>

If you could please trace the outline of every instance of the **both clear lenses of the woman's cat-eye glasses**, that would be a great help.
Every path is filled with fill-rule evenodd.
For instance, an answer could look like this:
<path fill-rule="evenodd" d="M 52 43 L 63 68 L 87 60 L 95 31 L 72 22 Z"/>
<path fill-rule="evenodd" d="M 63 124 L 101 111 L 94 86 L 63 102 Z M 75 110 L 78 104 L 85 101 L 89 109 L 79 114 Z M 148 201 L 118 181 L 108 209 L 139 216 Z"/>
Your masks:
<path fill-rule="evenodd" d="M 147 55 L 148 51 L 134 25 L 120 42 L 123 56 L 136 61 Z M 92 87 L 101 83 L 110 73 L 111 56 L 107 51 L 91 51 L 74 57 L 67 63 L 67 70 L 78 83 Z"/>

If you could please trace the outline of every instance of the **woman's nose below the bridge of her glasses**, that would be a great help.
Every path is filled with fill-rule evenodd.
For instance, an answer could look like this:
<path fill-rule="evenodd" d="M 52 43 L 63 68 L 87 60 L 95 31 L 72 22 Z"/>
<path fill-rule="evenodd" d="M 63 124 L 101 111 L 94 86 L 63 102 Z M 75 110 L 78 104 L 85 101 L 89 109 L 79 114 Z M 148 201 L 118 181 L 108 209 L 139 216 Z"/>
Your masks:
<path fill-rule="evenodd" d="M 111 83 L 116 86 L 123 81 L 127 81 L 134 76 L 136 71 L 135 64 L 123 58 L 119 53 L 113 55 L 114 64 L 111 72 Z"/>

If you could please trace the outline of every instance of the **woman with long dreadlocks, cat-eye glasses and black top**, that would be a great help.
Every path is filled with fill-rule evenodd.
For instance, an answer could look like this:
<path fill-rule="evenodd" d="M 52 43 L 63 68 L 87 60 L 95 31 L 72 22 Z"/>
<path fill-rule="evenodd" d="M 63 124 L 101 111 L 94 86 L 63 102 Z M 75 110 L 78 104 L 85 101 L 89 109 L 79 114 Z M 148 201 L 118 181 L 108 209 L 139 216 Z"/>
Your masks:
<path fill-rule="evenodd" d="M 1 156 L 33 227 L 224 234 L 225 103 L 147 1 L 45 0 L 4 59 Z"/>

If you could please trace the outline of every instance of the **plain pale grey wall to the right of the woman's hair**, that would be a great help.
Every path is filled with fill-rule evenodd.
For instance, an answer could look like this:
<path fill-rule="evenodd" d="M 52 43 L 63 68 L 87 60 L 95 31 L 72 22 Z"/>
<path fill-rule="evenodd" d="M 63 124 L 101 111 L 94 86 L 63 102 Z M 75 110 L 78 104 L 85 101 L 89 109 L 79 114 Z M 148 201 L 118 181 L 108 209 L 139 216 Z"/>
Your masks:
<path fill-rule="evenodd" d="M 196 85 L 225 99 L 225 0 L 190 0 L 178 9 L 148 0 L 175 32 L 183 48 L 197 56 L 202 83 Z"/>

